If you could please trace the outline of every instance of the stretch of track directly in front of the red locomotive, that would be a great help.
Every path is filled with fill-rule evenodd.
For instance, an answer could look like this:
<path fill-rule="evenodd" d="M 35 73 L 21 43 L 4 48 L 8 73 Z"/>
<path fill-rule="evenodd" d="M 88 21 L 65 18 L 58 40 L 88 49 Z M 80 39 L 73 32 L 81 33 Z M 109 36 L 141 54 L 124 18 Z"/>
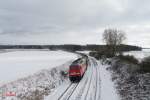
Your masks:
<path fill-rule="evenodd" d="M 58 100 L 69 100 L 79 83 L 71 83 Z"/>

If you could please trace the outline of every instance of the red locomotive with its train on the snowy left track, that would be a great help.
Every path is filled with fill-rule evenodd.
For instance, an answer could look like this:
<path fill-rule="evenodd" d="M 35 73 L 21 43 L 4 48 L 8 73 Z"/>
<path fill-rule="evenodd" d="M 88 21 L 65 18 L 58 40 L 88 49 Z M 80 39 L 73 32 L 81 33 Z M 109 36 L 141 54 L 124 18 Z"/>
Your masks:
<path fill-rule="evenodd" d="M 87 69 L 87 59 L 79 58 L 75 60 L 69 69 L 69 79 L 71 82 L 79 82 Z"/>

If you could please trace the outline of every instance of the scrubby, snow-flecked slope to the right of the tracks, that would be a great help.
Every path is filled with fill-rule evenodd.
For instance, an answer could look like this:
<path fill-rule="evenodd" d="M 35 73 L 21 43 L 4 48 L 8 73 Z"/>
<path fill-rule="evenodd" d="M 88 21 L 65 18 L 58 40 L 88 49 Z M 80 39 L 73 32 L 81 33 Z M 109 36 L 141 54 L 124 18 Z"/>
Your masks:
<path fill-rule="evenodd" d="M 150 73 L 131 70 L 137 65 L 112 59 L 112 79 L 116 83 L 121 100 L 150 100 Z"/>

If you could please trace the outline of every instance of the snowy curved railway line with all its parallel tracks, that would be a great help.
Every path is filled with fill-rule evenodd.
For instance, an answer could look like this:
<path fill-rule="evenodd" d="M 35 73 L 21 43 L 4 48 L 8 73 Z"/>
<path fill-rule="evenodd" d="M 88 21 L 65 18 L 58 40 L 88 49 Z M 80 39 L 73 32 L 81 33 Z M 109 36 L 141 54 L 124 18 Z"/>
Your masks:
<path fill-rule="evenodd" d="M 56 98 L 57 100 L 99 100 L 100 74 L 98 63 L 88 57 L 88 68 L 78 83 L 70 83 Z M 58 91 L 59 93 L 59 91 Z"/>

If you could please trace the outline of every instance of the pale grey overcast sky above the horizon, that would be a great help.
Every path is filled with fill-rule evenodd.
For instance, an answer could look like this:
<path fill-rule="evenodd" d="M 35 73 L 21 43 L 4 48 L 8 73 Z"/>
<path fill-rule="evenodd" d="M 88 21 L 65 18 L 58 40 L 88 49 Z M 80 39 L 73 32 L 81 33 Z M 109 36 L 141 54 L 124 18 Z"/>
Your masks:
<path fill-rule="evenodd" d="M 0 0 L 0 44 L 103 44 L 106 28 L 150 47 L 150 0 Z"/>

